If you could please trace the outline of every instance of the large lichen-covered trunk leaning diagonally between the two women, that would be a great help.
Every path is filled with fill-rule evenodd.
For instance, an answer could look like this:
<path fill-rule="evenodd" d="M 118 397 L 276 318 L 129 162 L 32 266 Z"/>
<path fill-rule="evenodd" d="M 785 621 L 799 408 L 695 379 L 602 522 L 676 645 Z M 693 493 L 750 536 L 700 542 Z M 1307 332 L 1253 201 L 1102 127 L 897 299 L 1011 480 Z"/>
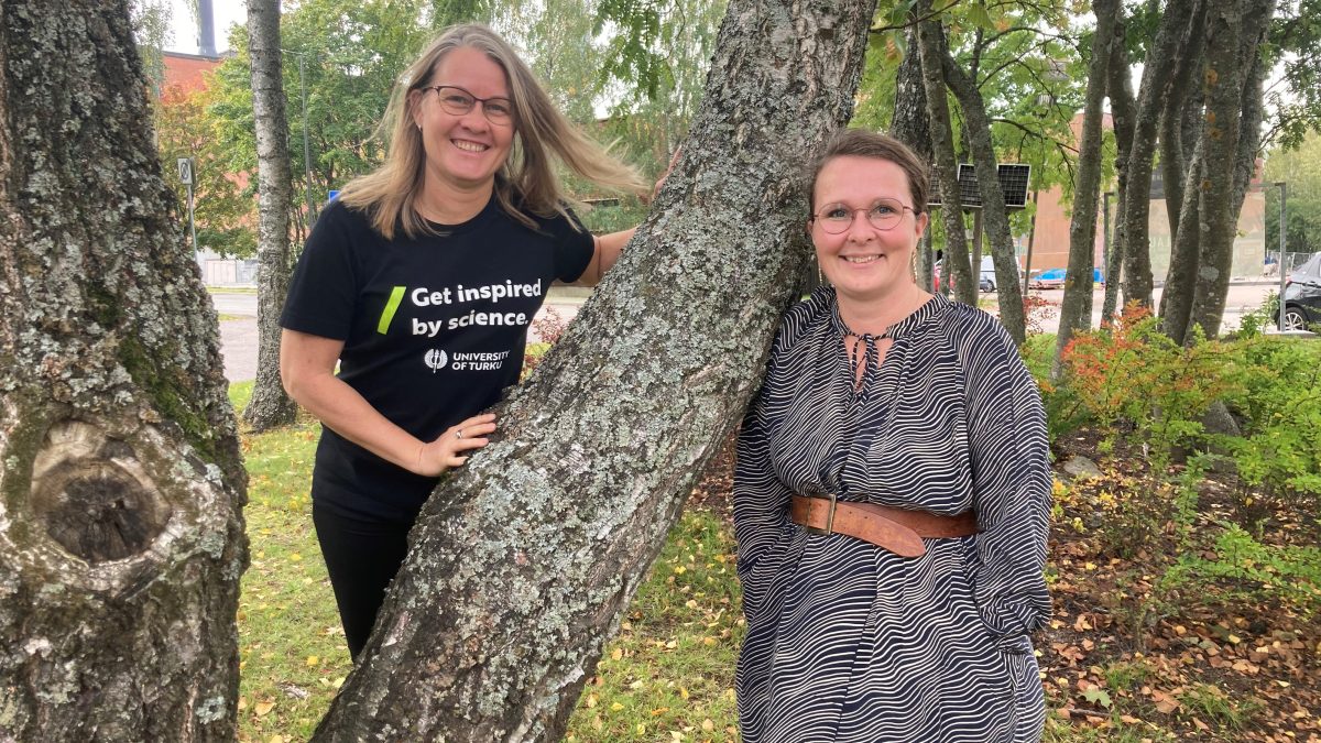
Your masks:
<path fill-rule="evenodd" d="M 802 161 L 849 118 L 873 5 L 731 1 L 651 217 L 424 506 L 316 740 L 561 734 L 798 297 Z"/>

